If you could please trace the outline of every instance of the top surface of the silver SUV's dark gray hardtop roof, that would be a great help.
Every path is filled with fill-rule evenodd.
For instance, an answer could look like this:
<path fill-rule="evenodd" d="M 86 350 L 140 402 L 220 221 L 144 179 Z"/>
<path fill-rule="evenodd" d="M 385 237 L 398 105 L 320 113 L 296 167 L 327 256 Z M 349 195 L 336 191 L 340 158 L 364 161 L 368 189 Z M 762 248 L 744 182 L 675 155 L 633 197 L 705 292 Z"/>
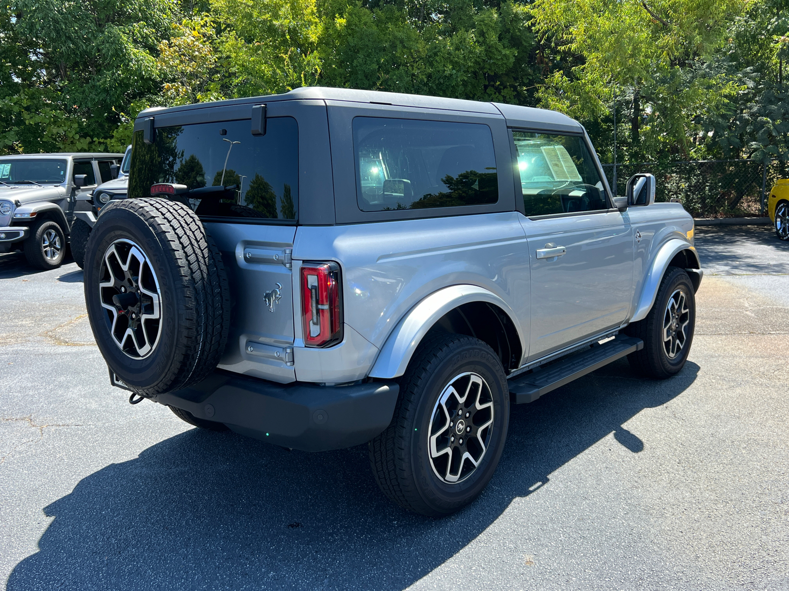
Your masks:
<path fill-rule="evenodd" d="M 466 111 L 469 113 L 502 114 L 507 125 L 524 128 L 540 128 L 548 125 L 552 129 L 580 132 L 583 128 L 578 121 L 558 111 L 537 109 L 531 106 L 507 105 L 499 102 L 468 101 L 446 99 L 438 96 L 405 95 L 398 92 L 360 91 L 352 88 L 301 87 L 282 95 L 255 96 L 246 99 L 230 99 L 216 102 L 200 102 L 192 105 L 174 107 L 151 107 L 141 111 L 137 119 L 163 113 L 178 113 L 191 110 L 210 109 L 215 106 L 259 104 L 261 102 L 318 99 L 326 101 L 367 102 L 392 106 L 409 106 L 421 109 Z"/>

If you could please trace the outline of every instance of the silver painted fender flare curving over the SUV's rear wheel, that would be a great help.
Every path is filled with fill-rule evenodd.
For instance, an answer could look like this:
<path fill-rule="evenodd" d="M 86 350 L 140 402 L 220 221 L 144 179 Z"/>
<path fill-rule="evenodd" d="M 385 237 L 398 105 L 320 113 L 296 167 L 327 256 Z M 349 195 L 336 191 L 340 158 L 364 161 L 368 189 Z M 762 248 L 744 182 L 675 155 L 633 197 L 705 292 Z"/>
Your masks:
<path fill-rule="evenodd" d="M 422 299 L 400 319 L 387 336 L 376 362 L 372 365 L 369 377 L 391 379 L 402 376 L 406 373 L 413 351 L 416 351 L 424 335 L 432 329 L 433 325 L 447 312 L 469 302 L 487 302 L 498 306 L 518 329 L 518 322 L 514 322 L 514 318 L 517 318 L 514 311 L 495 293 L 477 285 L 451 285 Z M 522 351 L 525 351 L 526 344 L 519 329 L 518 336 L 521 339 Z"/>

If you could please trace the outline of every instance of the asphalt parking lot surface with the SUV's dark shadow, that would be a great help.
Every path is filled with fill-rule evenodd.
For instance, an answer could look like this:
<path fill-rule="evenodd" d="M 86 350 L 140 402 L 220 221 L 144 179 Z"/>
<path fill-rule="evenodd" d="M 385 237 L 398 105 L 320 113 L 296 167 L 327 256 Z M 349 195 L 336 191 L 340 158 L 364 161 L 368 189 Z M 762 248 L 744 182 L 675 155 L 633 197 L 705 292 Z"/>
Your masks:
<path fill-rule="evenodd" d="M 685 369 L 513 407 L 488 489 L 390 504 L 365 446 L 193 429 L 111 388 L 82 272 L 0 255 L 0 582 L 30 589 L 789 591 L 789 243 L 699 228 Z"/>

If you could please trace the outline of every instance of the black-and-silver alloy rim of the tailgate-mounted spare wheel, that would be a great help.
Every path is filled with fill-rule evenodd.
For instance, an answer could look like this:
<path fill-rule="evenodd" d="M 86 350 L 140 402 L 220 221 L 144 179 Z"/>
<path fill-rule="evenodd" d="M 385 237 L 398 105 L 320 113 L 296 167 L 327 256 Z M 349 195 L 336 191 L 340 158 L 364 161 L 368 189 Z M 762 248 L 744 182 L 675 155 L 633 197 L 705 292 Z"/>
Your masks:
<path fill-rule="evenodd" d="M 104 253 L 100 277 L 112 340 L 133 359 L 151 355 L 162 332 L 162 296 L 148 256 L 131 240 L 115 240 Z"/>

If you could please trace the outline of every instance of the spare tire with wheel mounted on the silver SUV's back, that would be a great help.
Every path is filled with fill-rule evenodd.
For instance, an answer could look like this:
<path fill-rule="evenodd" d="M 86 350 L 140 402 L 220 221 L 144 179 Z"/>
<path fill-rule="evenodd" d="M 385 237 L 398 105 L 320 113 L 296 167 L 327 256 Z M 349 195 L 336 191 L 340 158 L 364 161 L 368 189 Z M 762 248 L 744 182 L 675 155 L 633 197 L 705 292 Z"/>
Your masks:
<path fill-rule="evenodd" d="M 134 392 L 172 392 L 214 370 L 230 325 L 230 289 L 219 249 L 189 207 L 152 198 L 110 202 L 88 239 L 84 271 L 96 344 Z M 102 281 L 112 287 L 99 288 Z"/>

